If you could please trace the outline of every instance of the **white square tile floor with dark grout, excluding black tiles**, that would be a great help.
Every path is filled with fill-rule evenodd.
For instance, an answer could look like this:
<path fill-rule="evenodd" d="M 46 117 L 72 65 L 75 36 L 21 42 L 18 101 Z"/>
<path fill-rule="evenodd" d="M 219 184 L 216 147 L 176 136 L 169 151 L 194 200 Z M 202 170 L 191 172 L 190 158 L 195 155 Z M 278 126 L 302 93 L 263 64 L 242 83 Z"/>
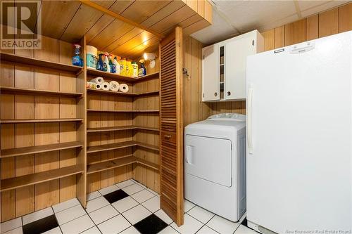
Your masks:
<path fill-rule="evenodd" d="M 122 189 L 130 196 L 110 204 L 103 195 L 118 189 Z M 1 223 L 0 233 L 23 233 L 23 225 L 52 214 L 55 214 L 59 226 L 46 232 L 50 234 L 134 234 L 139 232 L 132 225 L 150 214 L 155 214 L 169 225 L 161 230 L 160 233 L 162 234 L 256 233 L 254 230 L 241 225 L 240 222 L 233 223 L 223 219 L 187 200 L 184 201 L 184 225 L 178 227 L 160 209 L 158 194 L 134 180 L 123 181 L 91 193 L 88 195 L 87 200 L 87 209 L 83 209 L 80 202 L 77 199 L 73 199 L 6 221 Z"/>

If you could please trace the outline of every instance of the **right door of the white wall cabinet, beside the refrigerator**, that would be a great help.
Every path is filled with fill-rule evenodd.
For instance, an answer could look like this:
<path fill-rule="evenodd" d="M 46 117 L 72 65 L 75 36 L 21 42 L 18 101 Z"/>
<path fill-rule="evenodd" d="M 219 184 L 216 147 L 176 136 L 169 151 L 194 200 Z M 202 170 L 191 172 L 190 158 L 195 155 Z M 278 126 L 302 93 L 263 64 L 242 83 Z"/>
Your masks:
<path fill-rule="evenodd" d="M 256 40 L 245 37 L 230 41 L 225 50 L 225 99 L 246 99 L 246 60 L 256 53 Z"/>

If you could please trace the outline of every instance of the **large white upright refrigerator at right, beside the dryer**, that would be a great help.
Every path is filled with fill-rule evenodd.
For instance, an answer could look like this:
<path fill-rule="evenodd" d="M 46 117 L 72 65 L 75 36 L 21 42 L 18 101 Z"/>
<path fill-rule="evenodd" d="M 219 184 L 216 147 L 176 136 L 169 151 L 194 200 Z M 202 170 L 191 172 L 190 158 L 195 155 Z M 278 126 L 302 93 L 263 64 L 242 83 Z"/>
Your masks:
<path fill-rule="evenodd" d="M 351 233 L 351 44 L 352 31 L 247 58 L 247 221 L 260 233 Z"/>

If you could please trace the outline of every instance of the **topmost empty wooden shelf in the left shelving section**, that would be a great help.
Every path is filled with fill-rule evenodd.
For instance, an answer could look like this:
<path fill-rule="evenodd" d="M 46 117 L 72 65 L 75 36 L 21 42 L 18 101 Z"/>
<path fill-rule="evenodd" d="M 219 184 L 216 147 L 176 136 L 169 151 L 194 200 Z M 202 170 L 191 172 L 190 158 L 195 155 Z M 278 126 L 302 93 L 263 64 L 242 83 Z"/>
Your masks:
<path fill-rule="evenodd" d="M 37 59 L 37 58 L 27 58 L 25 56 L 18 56 L 13 53 L 1 52 L 0 56 L 1 56 L 1 60 L 13 62 L 13 63 L 23 63 L 25 65 L 51 68 L 51 69 L 55 69 L 55 70 L 65 71 L 65 72 L 77 73 L 77 72 L 82 71 L 82 67 L 68 65 L 68 64 L 64 64 L 64 63 L 50 62 L 47 60 L 41 60 L 41 59 Z"/>

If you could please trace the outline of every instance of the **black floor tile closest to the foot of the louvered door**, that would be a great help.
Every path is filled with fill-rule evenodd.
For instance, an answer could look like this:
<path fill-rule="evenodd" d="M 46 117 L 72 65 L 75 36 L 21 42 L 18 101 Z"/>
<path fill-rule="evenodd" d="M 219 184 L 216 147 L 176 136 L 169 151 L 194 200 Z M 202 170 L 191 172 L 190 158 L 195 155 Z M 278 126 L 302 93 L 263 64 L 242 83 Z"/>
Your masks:
<path fill-rule="evenodd" d="M 151 214 L 145 219 L 142 219 L 138 223 L 134 224 L 134 228 L 139 230 L 142 234 L 156 234 L 166 228 L 168 224 L 162 221 L 155 214 Z"/>

